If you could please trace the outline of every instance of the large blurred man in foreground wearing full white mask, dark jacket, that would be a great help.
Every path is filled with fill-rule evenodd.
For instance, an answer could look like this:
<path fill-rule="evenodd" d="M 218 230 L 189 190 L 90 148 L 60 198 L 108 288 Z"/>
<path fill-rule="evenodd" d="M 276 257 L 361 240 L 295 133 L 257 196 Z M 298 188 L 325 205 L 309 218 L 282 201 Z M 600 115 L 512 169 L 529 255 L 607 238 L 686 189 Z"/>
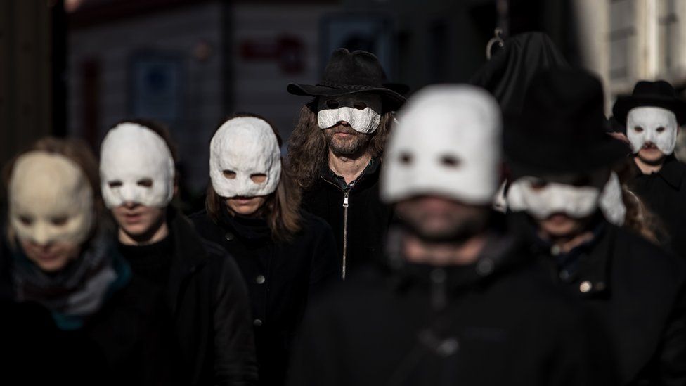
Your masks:
<path fill-rule="evenodd" d="M 491 210 L 500 110 L 432 86 L 401 110 L 382 174 L 387 265 L 311 309 L 290 385 L 611 385 L 591 321 Z"/>

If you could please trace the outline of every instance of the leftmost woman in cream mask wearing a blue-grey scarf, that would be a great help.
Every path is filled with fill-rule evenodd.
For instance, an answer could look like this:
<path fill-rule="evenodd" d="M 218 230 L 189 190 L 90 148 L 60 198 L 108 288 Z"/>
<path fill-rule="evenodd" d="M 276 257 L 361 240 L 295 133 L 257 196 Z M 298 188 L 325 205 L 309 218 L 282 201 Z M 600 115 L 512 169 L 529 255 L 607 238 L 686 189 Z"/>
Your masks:
<path fill-rule="evenodd" d="M 0 288 L 14 302 L 40 304 L 54 326 L 30 332 L 50 337 L 30 341 L 32 360 L 46 356 L 42 371 L 54 367 L 53 382 L 174 384 L 162 293 L 131 276 L 108 238 L 88 147 L 42 139 L 6 170 L 9 251 Z"/>

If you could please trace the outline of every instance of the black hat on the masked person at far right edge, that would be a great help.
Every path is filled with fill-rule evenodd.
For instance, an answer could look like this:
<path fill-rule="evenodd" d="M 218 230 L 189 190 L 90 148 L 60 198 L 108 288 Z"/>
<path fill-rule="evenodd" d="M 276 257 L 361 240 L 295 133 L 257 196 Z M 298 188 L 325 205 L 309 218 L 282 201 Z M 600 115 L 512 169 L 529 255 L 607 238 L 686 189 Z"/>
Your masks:
<path fill-rule="evenodd" d="M 626 126 L 626 116 L 633 108 L 653 106 L 674 112 L 679 125 L 686 122 L 686 102 L 676 96 L 674 88 L 664 80 L 648 82 L 642 80 L 633 88 L 631 95 L 619 96 L 612 107 L 617 121 Z"/>

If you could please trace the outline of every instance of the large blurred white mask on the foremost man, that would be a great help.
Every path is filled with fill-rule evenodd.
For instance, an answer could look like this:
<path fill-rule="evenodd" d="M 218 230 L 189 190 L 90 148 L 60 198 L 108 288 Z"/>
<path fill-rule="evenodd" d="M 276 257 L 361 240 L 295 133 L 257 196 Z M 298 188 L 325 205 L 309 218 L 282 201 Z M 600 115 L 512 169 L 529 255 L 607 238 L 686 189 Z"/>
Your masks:
<path fill-rule="evenodd" d="M 441 195 L 488 205 L 500 174 L 500 108 L 466 84 L 428 86 L 399 111 L 384 155 L 381 197 Z"/>

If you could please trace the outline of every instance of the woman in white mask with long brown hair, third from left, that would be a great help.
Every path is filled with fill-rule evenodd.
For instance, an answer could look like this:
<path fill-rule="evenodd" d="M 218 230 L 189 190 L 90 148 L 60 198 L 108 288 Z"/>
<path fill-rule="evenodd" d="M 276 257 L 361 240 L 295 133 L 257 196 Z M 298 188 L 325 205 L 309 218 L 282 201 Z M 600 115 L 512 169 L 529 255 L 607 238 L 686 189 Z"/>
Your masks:
<path fill-rule="evenodd" d="M 261 385 L 282 385 L 307 302 L 340 275 L 330 226 L 300 210 L 280 138 L 257 115 L 235 115 L 210 143 L 207 210 L 198 232 L 236 259 L 250 291 Z"/>

